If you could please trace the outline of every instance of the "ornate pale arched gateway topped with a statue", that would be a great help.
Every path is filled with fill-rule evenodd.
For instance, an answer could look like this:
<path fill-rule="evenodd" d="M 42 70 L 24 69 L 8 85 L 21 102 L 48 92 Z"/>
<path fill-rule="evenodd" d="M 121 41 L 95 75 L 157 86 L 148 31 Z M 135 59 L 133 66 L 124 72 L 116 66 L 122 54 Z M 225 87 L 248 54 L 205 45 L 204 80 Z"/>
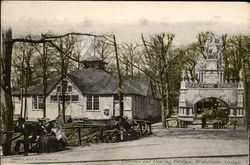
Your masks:
<path fill-rule="evenodd" d="M 229 120 L 242 119 L 243 83 L 225 82 L 222 40 L 210 33 L 206 43 L 206 59 L 196 66 L 197 80 L 186 78 L 181 82 L 178 118 L 193 121 L 196 103 L 206 98 L 217 98 L 229 107 Z M 184 76 L 183 76 L 184 78 Z"/>

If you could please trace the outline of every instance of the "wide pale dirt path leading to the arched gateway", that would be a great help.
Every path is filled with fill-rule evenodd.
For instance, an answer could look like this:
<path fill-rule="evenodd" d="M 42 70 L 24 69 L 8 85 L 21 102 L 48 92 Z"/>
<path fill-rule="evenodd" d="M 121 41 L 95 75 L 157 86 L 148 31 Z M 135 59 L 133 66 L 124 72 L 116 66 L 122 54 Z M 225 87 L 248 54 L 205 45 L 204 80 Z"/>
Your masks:
<path fill-rule="evenodd" d="M 7 156 L 5 164 L 201 164 L 246 165 L 248 140 L 237 129 L 163 129 L 153 125 L 154 134 L 139 140 L 93 144 L 50 154 Z"/>

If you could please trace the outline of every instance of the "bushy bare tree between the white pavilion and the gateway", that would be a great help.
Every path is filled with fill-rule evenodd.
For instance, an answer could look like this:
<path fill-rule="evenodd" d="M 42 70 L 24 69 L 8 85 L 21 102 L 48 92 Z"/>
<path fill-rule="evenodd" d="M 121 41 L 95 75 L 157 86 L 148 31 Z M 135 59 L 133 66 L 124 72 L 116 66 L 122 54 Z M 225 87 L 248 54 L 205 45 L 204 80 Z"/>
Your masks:
<path fill-rule="evenodd" d="M 155 84 L 156 94 L 161 101 L 162 125 L 166 127 L 166 117 L 170 116 L 170 90 L 171 90 L 171 69 L 176 64 L 177 54 L 171 52 L 174 35 L 162 33 L 151 36 L 149 40 L 145 40 L 142 35 L 144 45 L 143 57 L 144 60 L 143 72 L 148 75 Z"/>

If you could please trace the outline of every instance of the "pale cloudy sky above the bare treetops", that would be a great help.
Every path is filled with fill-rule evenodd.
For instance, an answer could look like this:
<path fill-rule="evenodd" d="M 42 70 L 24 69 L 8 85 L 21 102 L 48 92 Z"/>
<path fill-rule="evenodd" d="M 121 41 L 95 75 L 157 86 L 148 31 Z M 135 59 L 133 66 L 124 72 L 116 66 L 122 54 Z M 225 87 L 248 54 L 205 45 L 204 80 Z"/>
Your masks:
<path fill-rule="evenodd" d="M 196 41 L 199 32 L 250 35 L 247 2 L 2 1 L 2 27 L 13 35 L 82 32 L 115 34 L 140 43 L 140 35 L 175 34 L 174 44 Z"/>

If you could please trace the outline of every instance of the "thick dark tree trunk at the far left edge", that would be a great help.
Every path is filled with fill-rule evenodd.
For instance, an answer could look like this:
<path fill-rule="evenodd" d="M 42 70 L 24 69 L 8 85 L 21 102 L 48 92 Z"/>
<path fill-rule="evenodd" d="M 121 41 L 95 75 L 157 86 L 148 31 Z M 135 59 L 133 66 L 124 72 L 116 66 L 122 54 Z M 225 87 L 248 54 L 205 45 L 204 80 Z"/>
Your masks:
<path fill-rule="evenodd" d="M 3 103 L 2 109 L 2 124 L 3 131 L 6 133 L 6 141 L 12 139 L 13 131 L 13 103 L 11 96 L 11 58 L 12 58 L 12 30 L 3 31 L 3 45 L 2 45 L 2 89 L 3 89 Z M 3 154 L 11 154 L 11 142 L 3 146 Z"/>

